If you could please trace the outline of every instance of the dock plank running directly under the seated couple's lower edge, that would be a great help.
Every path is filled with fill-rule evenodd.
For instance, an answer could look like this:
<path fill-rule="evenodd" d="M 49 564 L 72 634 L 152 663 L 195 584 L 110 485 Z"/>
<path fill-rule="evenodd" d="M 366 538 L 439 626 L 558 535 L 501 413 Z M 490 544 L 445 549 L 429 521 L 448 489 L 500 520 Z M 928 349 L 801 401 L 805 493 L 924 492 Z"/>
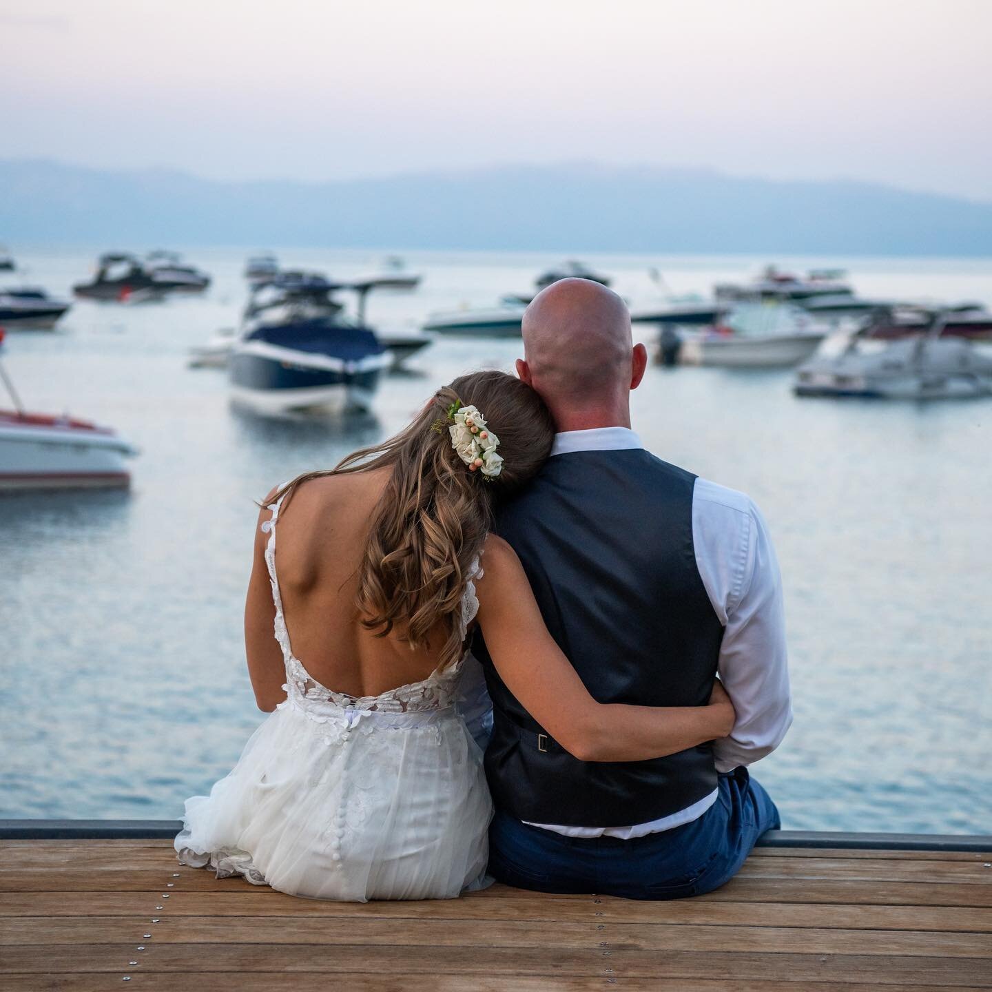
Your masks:
<path fill-rule="evenodd" d="M 175 891 L 175 890 L 174 890 Z M 952 930 L 992 933 L 992 910 L 931 906 L 851 906 L 796 903 L 720 903 L 682 899 L 664 903 L 588 898 L 558 900 L 557 897 L 515 895 L 503 889 L 500 899 L 466 896 L 460 900 L 402 903 L 330 903 L 296 899 L 281 893 L 273 897 L 255 891 L 237 895 L 176 892 L 169 901 L 160 893 L 71 892 L 7 893 L 0 895 L 0 919 L 4 917 L 118 917 L 149 916 L 155 906 L 168 908 L 176 917 L 242 917 L 293 920 L 492 920 L 581 923 L 603 916 L 596 923 L 664 923 L 707 926 L 817 927 L 861 930 Z M 0 923 L 0 928 L 3 924 Z"/>

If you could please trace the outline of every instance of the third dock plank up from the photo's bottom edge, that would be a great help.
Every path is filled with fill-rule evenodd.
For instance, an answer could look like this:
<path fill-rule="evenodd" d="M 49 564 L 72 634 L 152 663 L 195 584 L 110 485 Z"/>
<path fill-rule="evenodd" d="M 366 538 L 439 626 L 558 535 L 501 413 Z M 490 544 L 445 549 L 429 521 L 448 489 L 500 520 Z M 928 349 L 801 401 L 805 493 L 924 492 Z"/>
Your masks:
<path fill-rule="evenodd" d="M 160 922 L 155 924 L 153 921 Z M 0 944 L 95 944 L 108 939 L 134 941 L 150 931 L 163 943 L 368 944 L 390 946 L 590 948 L 613 950 L 692 950 L 714 939 L 724 951 L 800 954 L 895 954 L 924 957 L 986 957 L 992 940 L 984 933 L 920 930 L 841 930 L 803 927 L 714 928 L 693 925 L 522 923 L 478 920 L 356 920 L 289 917 L 23 917 L 8 919 Z M 992 965 L 990 965 L 992 970 Z"/>

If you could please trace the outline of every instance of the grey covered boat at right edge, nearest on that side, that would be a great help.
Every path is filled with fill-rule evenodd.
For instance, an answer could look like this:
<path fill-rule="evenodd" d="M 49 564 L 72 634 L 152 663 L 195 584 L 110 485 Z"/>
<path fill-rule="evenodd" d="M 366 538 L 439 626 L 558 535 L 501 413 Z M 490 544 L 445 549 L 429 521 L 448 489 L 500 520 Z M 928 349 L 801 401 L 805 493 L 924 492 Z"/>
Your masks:
<path fill-rule="evenodd" d="M 947 400 L 992 396 L 992 355 L 944 334 L 944 314 L 916 337 L 882 341 L 865 330 L 849 335 L 838 354 L 816 355 L 796 376 L 805 397 Z"/>

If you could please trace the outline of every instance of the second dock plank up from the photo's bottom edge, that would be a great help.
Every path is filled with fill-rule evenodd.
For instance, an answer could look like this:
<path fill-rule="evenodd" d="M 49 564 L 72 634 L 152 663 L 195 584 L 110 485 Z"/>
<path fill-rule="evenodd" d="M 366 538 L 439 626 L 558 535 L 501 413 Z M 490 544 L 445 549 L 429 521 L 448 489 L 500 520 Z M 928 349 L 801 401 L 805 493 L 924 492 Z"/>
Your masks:
<path fill-rule="evenodd" d="M 40 952 L 40 950 L 42 952 Z M 124 959 L 116 945 L 27 946 L 5 952 L 3 970 L 14 974 L 80 973 L 122 974 Z M 520 976 L 624 977 L 741 981 L 875 982 L 896 988 L 921 985 L 992 986 L 987 958 L 949 958 L 865 954 L 795 954 L 724 952 L 696 947 L 689 951 L 599 951 L 541 948 L 473 948 L 458 954 L 448 948 L 307 944 L 161 944 L 145 952 L 144 972 L 362 972 L 369 975 L 477 976 L 515 981 Z M 211 983 L 212 984 L 212 983 Z M 472 987 L 467 985 L 466 987 Z M 513 987 L 512 985 L 510 986 Z"/>

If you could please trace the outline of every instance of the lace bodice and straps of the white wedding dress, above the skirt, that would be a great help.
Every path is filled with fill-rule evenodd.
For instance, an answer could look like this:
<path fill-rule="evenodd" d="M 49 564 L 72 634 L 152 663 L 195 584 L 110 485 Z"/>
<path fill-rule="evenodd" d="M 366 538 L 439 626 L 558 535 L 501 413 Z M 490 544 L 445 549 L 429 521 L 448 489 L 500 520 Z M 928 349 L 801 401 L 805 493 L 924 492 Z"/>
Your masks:
<path fill-rule="evenodd" d="M 283 488 L 282 486 L 280 488 Z M 340 707 L 348 710 L 376 710 L 381 712 L 414 712 L 441 709 L 452 705 L 458 699 L 458 682 L 461 677 L 465 656 L 443 671 L 434 672 L 422 682 L 411 682 L 399 685 L 379 695 L 353 696 L 346 692 L 335 692 L 317 682 L 303 662 L 293 654 L 290 644 L 290 634 L 286 627 L 286 616 L 283 612 L 283 597 L 279 590 L 279 577 L 276 573 L 276 524 L 279 511 L 283 504 L 283 496 L 269 505 L 272 519 L 262 524 L 262 530 L 269 536 L 265 548 L 265 561 L 269 569 L 269 581 L 272 585 L 272 599 L 276 606 L 275 635 L 283 651 L 283 662 L 286 665 L 286 689 L 288 700 L 305 709 Z M 475 580 L 482 577 L 482 568 L 476 558 L 472 562 L 469 580 L 461 597 L 461 639 L 465 640 L 468 628 L 475 619 L 479 609 L 479 601 L 475 596 Z"/>

